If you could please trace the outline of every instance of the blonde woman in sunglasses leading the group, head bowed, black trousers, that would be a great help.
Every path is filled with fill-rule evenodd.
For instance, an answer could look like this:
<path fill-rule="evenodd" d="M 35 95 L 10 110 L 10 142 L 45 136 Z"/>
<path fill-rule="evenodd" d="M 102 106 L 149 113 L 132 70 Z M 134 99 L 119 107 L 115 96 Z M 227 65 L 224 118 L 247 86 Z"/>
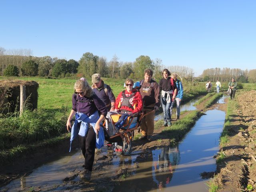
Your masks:
<path fill-rule="evenodd" d="M 75 93 L 72 96 L 72 110 L 66 124 L 67 130 L 70 131 L 70 121 L 75 114 L 76 116 L 78 113 L 85 114 L 89 118 L 92 118 L 92 116 L 94 118 L 94 122 L 90 123 L 91 126 L 88 126 L 87 132 L 83 132 L 82 127 L 80 127 L 78 133 L 82 154 L 85 158 L 85 170 L 80 174 L 80 177 L 83 180 L 90 180 L 96 148 L 96 136 L 100 129 L 102 129 L 100 128 L 100 123 L 104 120 L 108 111 L 105 104 L 98 98 L 98 96 L 96 96 L 96 94 L 94 94 L 91 86 L 84 78 L 76 81 L 74 89 Z"/>

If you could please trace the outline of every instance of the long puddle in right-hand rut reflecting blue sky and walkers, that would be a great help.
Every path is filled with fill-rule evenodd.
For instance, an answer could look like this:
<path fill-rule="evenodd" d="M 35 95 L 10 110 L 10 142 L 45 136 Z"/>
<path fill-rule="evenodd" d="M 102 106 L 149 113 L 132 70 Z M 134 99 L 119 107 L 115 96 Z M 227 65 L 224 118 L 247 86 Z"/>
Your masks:
<path fill-rule="evenodd" d="M 218 139 L 224 118 L 225 113 L 222 111 L 207 111 L 178 146 L 153 150 L 152 158 L 140 162 L 135 174 L 116 187 L 114 192 L 130 192 L 134 189 L 151 192 L 207 192 L 207 180 L 202 179 L 200 173 L 216 170 L 213 156 L 219 149 Z"/>

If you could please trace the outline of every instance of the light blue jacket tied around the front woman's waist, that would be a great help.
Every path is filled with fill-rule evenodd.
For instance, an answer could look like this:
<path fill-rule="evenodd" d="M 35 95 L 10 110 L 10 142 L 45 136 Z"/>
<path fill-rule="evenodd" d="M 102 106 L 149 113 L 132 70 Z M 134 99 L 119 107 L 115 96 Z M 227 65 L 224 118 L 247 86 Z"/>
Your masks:
<path fill-rule="evenodd" d="M 74 125 L 72 126 L 72 129 L 71 129 L 69 152 L 71 151 L 72 141 L 78 135 L 83 136 L 83 137 L 87 135 L 88 129 L 89 129 L 88 123 L 90 123 L 90 125 L 94 129 L 96 122 L 98 121 L 100 116 L 98 114 L 98 111 L 95 111 L 94 114 L 92 114 L 91 116 L 87 116 L 86 114 L 83 114 L 83 113 L 76 113 L 75 118 L 76 119 L 75 119 Z M 79 130 L 78 123 L 80 123 L 80 122 L 81 122 L 81 125 L 80 125 L 80 130 Z M 95 132 L 95 129 L 94 129 L 94 132 Z M 104 131 L 102 128 L 100 128 L 100 131 L 98 132 L 98 138 L 96 137 L 96 148 L 98 148 L 98 149 L 102 148 L 102 146 L 104 146 L 104 140 L 105 140 Z"/>

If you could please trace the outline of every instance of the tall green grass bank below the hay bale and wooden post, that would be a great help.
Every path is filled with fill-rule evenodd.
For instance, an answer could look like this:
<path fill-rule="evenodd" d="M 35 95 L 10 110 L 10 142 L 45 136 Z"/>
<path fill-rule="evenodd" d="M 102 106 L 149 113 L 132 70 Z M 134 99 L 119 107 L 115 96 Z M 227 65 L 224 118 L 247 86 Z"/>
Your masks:
<path fill-rule="evenodd" d="M 66 133 L 66 112 L 62 110 L 26 110 L 0 118 L 0 159 L 10 160 L 26 153 L 36 142 L 55 138 Z M 51 140 L 48 140 L 51 141 Z M 28 146 L 27 146 L 28 145 Z"/>

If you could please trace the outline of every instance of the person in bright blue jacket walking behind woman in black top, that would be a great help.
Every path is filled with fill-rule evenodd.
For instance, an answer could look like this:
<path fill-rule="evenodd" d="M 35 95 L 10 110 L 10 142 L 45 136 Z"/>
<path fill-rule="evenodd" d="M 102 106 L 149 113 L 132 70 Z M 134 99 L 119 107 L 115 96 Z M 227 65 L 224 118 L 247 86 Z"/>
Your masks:
<path fill-rule="evenodd" d="M 180 102 L 183 98 L 183 87 L 182 87 L 182 83 L 180 80 L 177 79 L 177 74 L 173 73 L 171 74 L 171 78 L 174 79 L 177 89 L 178 89 L 178 94 L 176 95 L 176 114 L 177 114 L 177 120 L 180 119 Z M 172 105 L 170 107 L 170 111 L 171 111 L 171 116 L 172 116 L 172 108 L 173 108 L 174 102 L 172 102 Z"/>

